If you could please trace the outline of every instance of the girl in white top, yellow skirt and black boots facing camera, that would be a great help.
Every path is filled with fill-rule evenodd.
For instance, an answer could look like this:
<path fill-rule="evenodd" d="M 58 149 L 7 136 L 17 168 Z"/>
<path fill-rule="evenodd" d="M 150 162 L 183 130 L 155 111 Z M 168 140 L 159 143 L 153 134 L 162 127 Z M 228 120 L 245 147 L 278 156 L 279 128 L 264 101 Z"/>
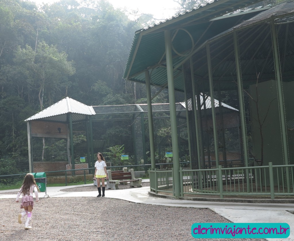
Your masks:
<path fill-rule="evenodd" d="M 105 177 L 108 180 L 108 175 L 107 175 L 107 171 L 106 171 L 106 163 L 104 160 L 104 157 L 102 156 L 101 153 L 97 153 L 97 161 L 95 163 L 95 177 L 94 180 L 97 180 L 97 188 L 98 188 L 98 196 L 97 197 L 101 197 L 101 187 L 100 187 L 100 180 L 102 182 L 102 197 L 105 196 L 104 192 L 105 192 Z"/>

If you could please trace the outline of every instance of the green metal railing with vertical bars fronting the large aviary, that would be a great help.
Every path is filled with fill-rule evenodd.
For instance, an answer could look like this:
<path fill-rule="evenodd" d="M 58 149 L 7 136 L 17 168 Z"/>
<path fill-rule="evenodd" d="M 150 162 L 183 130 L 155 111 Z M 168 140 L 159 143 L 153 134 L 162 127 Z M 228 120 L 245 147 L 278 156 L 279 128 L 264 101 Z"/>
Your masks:
<path fill-rule="evenodd" d="M 181 196 L 294 196 L 294 165 L 184 170 L 180 168 Z M 149 171 L 150 189 L 172 193 L 171 170 Z M 290 179 L 287 180 L 286 173 Z M 170 176 L 168 176 L 170 175 Z M 167 178 L 168 176 L 168 178 Z M 173 179 L 172 179 L 173 180 Z M 290 183 L 290 185 L 288 184 Z"/>

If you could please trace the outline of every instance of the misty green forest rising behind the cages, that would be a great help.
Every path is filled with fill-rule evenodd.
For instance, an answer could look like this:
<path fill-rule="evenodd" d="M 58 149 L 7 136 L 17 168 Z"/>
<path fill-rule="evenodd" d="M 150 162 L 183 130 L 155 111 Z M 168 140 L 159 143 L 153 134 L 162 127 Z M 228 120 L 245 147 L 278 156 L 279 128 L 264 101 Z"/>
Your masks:
<path fill-rule="evenodd" d="M 206 3 L 173 1 L 179 4 L 175 15 Z M 145 85 L 122 75 L 135 31 L 159 20 L 136 12 L 131 20 L 128 14 L 104 0 L 63 0 L 42 6 L 0 0 L 1 175 L 17 173 L 13 160 L 28 156 L 24 120 L 64 97 L 86 105 L 146 103 Z M 157 92 L 155 87 L 152 92 Z M 176 101 L 184 101 L 182 93 L 177 93 Z M 168 103 L 167 93 L 153 103 Z"/>

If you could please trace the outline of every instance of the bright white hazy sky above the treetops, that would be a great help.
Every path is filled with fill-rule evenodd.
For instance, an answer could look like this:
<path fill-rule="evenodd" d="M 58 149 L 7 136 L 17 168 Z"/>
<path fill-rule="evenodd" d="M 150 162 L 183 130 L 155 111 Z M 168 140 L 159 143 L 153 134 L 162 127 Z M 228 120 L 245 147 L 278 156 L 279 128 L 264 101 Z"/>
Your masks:
<path fill-rule="evenodd" d="M 58 0 L 31 0 L 37 4 L 52 3 Z M 156 19 L 171 18 L 175 15 L 176 4 L 173 0 L 108 0 L 115 8 L 138 10 L 139 13 L 153 14 Z"/>

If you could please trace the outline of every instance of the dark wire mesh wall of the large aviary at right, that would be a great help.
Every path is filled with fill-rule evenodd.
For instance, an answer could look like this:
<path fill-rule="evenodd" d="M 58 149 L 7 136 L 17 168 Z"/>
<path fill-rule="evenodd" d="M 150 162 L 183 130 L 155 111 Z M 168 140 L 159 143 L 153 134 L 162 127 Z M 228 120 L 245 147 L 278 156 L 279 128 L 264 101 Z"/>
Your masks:
<path fill-rule="evenodd" d="M 278 10 L 273 11 L 278 13 Z M 235 33 L 218 36 L 193 56 L 196 100 L 200 103 L 197 105 L 197 128 L 201 168 L 215 168 L 217 159 L 223 168 L 293 164 L 293 16 L 251 23 L 244 22 L 239 31 L 236 26 Z M 247 24 L 248 28 L 244 28 Z M 280 190 L 279 185 L 284 188 L 287 180 L 290 182 L 287 188 L 293 189 L 292 169 L 285 170 L 284 175 L 274 174 L 274 190 Z M 224 185 L 231 185 L 232 180 L 237 179 L 241 183 L 254 181 L 255 189 L 263 190 L 270 183 L 268 172 L 256 171 L 253 175 L 252 170 L 251 174 L 239 171 L 228 171 Z M 238 173 L 237 179 L 235 173 Z M 245 185 L 246 188 L 253 190 Z M 224 186 L 224 190 L 228 189 Z"/>

